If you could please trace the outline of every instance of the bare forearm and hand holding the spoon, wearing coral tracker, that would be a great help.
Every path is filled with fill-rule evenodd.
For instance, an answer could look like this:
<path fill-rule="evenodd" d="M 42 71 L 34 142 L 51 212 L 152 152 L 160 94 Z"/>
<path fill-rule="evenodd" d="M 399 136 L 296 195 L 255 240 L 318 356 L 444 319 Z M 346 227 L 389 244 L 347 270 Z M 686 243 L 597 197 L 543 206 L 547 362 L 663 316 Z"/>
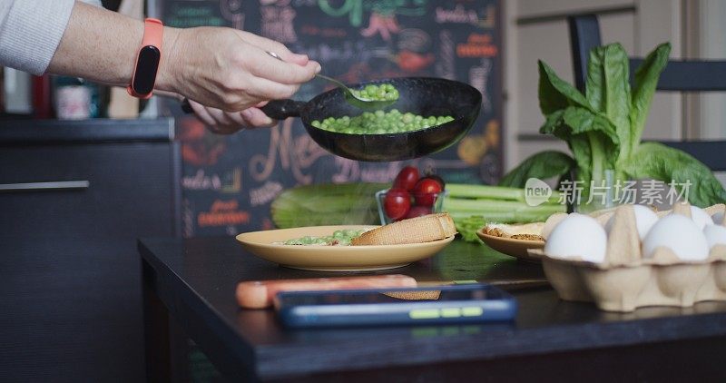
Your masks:
<path fill-rule="evenodd" d="M 47 72 L 125 86 L 132 78 L 142 36 L 141 20 L 75 2 Z M 260 102 L 289 98 L 317 71 L 319 64 L 307 56 L 292 54 L 284 45 L 255 34 L 231 28 L 164 27 L 155 88 L 201 102 L 208 113 L 214 108 L 225 111 L 234 121 L 235 113 L 243 117 L 240 111 Z M 240 122 L 270 123 L 258 112 L 253 109 L 252 117 Z"/>

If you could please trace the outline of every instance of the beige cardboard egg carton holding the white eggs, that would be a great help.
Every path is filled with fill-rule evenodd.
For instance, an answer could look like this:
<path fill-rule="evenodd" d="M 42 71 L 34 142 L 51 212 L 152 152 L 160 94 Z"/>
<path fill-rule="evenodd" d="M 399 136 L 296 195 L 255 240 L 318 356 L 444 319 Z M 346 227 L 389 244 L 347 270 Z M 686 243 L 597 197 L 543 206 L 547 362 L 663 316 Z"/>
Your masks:
<path fill-rule="evenodd" d="M 564 259 L 547 255 L 544 250 L 529 250 L 542 260 L 544 274 L 560 299 L 594 302 L 599 309 L 619 312 L 726 300 L 726 245 L 713 246 L 705 260 L 682 260 L 666 247 L 658 247 L 651 257 L 643 258 L 629 212 L 619 209 L 603 214 L 594 218 L 603 226 L 615 218 L 617 225 L 608 238 L 609 249 L 603 262 Z M 619 217 L 613 217 L 615 214 Z M 564 216 L 545 224 L 544 232 L 551 231 Z"/>

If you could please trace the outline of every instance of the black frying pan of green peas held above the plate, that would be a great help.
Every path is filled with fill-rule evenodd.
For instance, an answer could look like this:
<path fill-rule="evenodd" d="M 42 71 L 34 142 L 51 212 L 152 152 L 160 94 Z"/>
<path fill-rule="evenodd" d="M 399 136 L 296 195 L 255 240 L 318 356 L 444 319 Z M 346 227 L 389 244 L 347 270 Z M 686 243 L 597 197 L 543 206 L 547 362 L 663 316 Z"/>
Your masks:
<path fill-rule="evenodd" d="M 391 83 L 400 94 L 385 110 L 423 116 L 451 115 L 454 121 L 407 133 L 348 134 L 325 131 L 312 126 L 315 120 L 354 116 L 363 113 L 346 102 L 339 88 L 320 93 L 309 102 L 271 101 L 261 109 L 276 120 L 299 117 L 310 137 L 320 146 L 351 160 L 388 162 L 409 160 L 440 152 L 459 141 L 471 129 L 481 109 L 482 95 L 476 88 L 442 78 L 399 77 L 368 83 Z M 359 89 L 368 83 L 350 85 Z"/>

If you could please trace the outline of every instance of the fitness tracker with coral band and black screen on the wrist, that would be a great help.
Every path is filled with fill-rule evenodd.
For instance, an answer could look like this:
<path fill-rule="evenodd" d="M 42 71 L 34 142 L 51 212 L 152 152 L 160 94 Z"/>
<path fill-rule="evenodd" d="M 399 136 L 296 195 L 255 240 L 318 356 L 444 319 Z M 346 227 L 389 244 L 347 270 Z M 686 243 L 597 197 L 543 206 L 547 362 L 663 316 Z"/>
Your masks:
<path fill-rule="evenodd" d="M 131 83 L 126 90 L 134 97 L 147 99 L 152 96 L 156 73 L 162 61 L 162 37 L 164 26 L 157 19 L 147 18 L 143 22 L 142 46 L 136 54 Z"/>

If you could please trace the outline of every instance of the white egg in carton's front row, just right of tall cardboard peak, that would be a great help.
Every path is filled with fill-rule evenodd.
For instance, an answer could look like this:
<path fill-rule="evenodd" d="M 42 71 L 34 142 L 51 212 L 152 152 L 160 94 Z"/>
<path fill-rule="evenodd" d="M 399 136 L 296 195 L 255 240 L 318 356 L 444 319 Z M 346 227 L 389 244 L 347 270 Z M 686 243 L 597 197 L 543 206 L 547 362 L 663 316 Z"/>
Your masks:
<path fill-rule="evenodd" d="M 643 239 L 643 256 L 650 258 L 658 247 L 666 247 L 682 260 L 705 260 L 709 256 L 706 236 L 697 224 L 680 214 L 669 214 L 655 222 Z"/>

